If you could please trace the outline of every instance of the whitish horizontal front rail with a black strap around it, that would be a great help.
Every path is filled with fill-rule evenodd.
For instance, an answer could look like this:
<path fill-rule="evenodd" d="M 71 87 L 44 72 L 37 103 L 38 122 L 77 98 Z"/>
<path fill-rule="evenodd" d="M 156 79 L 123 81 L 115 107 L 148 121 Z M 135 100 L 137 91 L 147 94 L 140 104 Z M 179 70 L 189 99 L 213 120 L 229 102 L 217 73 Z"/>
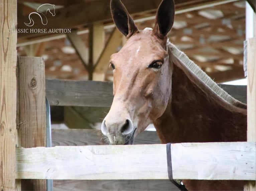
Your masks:
<path fill-rule="evenodd" d="M 174 179 L 255 180 L 255 142 L 171 145 Z M 17 148 L 16 179 L 168 179 L 166 145 Z"/>

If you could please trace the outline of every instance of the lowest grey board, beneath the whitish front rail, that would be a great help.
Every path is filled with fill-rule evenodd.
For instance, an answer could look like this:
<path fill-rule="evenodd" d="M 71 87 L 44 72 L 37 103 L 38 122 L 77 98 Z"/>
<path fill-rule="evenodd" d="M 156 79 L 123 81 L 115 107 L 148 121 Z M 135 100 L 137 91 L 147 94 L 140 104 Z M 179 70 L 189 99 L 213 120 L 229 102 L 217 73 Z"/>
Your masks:
<path fill-rule="evenodd" d="M 178 191 L 179 189 L 169 180 L 54 180 L 54 191 Z"/>

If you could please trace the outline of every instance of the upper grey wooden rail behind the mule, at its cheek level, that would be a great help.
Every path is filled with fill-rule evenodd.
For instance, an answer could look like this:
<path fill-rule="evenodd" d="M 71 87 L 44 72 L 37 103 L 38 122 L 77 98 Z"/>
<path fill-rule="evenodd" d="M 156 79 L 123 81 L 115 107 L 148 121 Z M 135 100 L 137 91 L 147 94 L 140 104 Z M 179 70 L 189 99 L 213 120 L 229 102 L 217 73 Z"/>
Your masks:
<path fill-rule="evenodd" d="M 112 82 L 46 80 L 45 86 L 50 105 L 110 107 L 113 101 Z M 246 103 L 246 86 L 220 86 Z"/>

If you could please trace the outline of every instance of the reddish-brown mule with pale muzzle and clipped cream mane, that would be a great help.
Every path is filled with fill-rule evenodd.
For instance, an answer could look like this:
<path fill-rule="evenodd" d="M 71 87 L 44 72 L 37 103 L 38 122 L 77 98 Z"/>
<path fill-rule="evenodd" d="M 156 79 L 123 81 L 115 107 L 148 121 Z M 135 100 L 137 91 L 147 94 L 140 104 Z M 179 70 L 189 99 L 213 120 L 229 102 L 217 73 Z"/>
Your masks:
<path fill-rule="evenodd" d="M 111 56 L 113 103 L 101 126 L 110 144 L 133 144 L 150 123 L 161 143 L 246 141 L 246 105 L 234 99 L 167 39 L 173 0 L 162 0 L 153 29 L 139 31 L 120 0 L 111 0 L 126 36 Z M 183 180 L 188 190 L 243 190 L 244 181 Z"/>

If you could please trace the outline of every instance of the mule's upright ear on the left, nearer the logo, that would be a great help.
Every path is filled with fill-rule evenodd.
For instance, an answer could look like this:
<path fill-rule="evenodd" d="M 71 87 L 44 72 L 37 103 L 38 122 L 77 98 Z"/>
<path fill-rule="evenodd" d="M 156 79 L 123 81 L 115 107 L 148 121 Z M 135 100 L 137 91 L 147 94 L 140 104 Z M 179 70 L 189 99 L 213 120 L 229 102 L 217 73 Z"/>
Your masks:
<path fill-rule="evenodd" d="M 134 33 L 138 32 L 138 28 L 120 0 L 111 0 L 110 8 L 116 27 L 126 36 L 126 38 L 129 38 Z"/>

